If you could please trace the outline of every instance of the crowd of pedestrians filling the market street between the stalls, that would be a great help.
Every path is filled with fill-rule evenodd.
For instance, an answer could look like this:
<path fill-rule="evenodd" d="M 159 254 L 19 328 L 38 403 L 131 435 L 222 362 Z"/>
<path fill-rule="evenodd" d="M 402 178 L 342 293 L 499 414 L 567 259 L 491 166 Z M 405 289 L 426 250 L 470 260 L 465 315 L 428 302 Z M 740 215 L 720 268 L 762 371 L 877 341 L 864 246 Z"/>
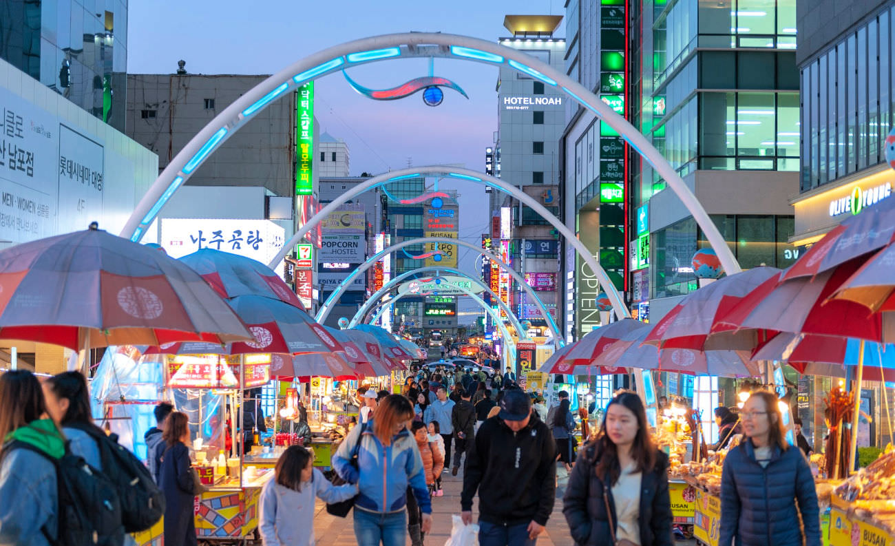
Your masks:
<path fill-rule="evenodd" d="M 489 380 L 471 370 L 423 369 L 405 384 L 407 396 L 360 393 L 368 411 L 332 457 L 345 483 L 314 469 L 308 449 L 286 449 L 261 492 L 263 542 L 314 544 L 313 499 L 319 498 L 353 502 L 359 546 L 404 546 L 408 535 L 413 546 L 423 546 L 433 500 L 443 495 L 443 473 L 462 470 L 458 508 L 464 524 L 473 523 L 478 496 L 481 546 L 533 546 L 553 513 L 558 468 L 566 468 L 562 511 L 576 544 L 671 546 L 669 458 L 652 441 L 638 395 L 613 397 L 599 429 L 585 433 L 579 448 L 567 392 L 548 409 L 542 397 L 517 386 L 512 370 L 502 374 L 500 387 L 499 375 Z M 776 397 L 755 392 L 738 423 L 724 411 L 716 417 L 722 445 L 733 433 L 745 437 L 723 464 L 719 544 L 820 546 L 805 448 L 784 439 Z M 200 485 L 190 465 L 187 417 L 162 403 L 155 418 L 145 437 L 145 472 L 164 493 L 166 544 L 195 544 L 193 499 Z M 66 461 L 75 456 L 90 465 L 95 480 L 120 470 L 104 455 L 106 433 L 92 421 L 86 380 L 66 372 L 41 384 L 28 371 L 7 371 L 0 376 L 0 435 L 0 544 L 72 543 L 77 507 L 58 487 L 69 479 Z M 115 497 L 106 502 L 126 505 Z M 130 541 L 126 520 L 107 525 L 94 542 Z"/>

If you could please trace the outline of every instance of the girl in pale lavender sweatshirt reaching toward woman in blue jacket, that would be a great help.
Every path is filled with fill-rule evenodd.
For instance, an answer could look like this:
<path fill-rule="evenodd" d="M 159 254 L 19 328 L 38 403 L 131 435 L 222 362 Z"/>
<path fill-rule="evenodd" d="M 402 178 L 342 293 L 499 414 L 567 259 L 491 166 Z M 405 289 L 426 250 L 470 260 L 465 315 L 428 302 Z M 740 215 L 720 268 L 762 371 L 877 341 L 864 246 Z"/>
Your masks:
<path fill-rule="evenodd" d="M 302 446 L 289 446 L 277 460 L 274 478 L 261 490 L 258 529 L 264 546 L 313 546 L 314 498 L 341 502 L 357 494 L 357 485 L 333 485 L 313 464 Z"/>

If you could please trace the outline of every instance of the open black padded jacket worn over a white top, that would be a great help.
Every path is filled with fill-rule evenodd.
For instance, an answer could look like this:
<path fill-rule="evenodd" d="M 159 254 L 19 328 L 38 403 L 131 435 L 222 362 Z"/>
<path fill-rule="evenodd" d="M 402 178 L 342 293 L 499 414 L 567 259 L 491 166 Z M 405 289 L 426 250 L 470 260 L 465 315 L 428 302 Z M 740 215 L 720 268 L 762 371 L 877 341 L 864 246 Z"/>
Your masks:
<path fill-rule="evenodd" d="M 572 539 L 579 546 L 613 546 L 609 531 L 609 517 L 606 500 L 603 498 L 605 482 L 594 471 L 599 457 L 593 445 L 583 449 L 584 456 L 578 458 L 568 479 L 563 497 L 563 514 L 566 515 Z M 673 546 L 671 536 L 671 500 L 668 479 L 669 457 L 656 452 L 656 464 L 652 471 L 644 472 L 640 480 L 640 525 L 641 546 Z M 609 486 L 609 507 L 612 522 L 618 529 L 615 499 Z M 719 542 L 720 544 L 721 542 Z"/>

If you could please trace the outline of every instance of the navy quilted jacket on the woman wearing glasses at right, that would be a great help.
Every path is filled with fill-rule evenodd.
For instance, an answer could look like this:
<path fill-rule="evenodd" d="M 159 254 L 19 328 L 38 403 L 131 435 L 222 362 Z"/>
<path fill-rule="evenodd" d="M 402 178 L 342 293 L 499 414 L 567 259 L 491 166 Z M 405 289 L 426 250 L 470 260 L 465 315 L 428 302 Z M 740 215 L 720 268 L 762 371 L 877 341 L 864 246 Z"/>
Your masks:
<path fill-rule="evenodd" d="M 805 546 L 820 546 L 814 478 L 798 448 L 782 451 L 775 447 L 767 468 L 755 461 L 751 440 L 730 450 L 721 473 L 719 544 L 802 546 L 799 512 L 805 525 Z"/>

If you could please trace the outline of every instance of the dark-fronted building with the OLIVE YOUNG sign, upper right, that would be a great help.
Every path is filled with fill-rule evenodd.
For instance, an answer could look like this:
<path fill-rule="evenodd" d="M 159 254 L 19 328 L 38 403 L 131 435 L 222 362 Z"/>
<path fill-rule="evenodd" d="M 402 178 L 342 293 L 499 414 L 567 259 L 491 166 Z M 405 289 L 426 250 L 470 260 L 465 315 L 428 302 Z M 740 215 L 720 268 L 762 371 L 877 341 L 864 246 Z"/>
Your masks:
<path fill-rule="evenodd" d="M 794 253 L 888 199 L 895 182 L 885 157 L 895 113 L 895 2 L 828 7 L 799 0 L 798 13 L 802 164 Z"/>

